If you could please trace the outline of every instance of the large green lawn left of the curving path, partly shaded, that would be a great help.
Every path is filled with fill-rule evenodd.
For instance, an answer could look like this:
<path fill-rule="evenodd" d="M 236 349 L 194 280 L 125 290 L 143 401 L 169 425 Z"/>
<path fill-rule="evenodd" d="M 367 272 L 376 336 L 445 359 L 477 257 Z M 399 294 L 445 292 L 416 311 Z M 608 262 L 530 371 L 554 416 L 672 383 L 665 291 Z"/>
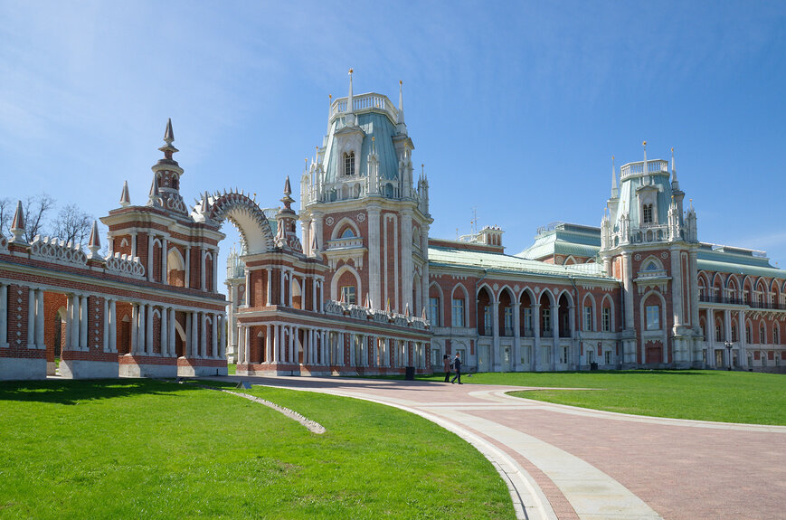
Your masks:
<path fill-rule="evenodd" d="M 2 518 L 514 518 L 477 450 L 370 402 L 149 380 L 0 383 Z"/>

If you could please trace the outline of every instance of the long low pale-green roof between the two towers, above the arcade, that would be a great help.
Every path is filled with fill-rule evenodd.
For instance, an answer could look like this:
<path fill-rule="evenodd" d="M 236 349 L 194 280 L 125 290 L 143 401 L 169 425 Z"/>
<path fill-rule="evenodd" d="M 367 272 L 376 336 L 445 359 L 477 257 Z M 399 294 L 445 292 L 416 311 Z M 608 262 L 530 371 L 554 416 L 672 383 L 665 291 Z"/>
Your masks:
<path fill-rule="evenodd" d="M 602 266 L 596 263 L 561 266 L 502 253 L 467 251 L 446 247 L 429 247 L 429 264 L 434 267 L 464 267 L 511 274 L 524 273 L 561 278 L 577 277 L 616 281 L 605 276 Z"/>

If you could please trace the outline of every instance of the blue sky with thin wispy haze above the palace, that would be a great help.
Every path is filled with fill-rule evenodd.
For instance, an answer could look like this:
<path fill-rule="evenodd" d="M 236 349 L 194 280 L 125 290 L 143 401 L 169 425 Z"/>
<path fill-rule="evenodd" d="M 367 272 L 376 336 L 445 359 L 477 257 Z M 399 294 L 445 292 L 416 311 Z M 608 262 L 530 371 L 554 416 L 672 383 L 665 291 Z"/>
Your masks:
<path fill-rule="evenodd" d="M 473 208 L 511 254 L 548 222 L 599 225 L 611 156 L 647 140 L 675 148 L 700 240 L 786 268 L 782 1 L 0 0 L 0 20 L 0 198 L 99 217 L 128 180 L 146 203 L 172 118 L 187 203 L 237 186 L 278 205 L 354 67 L 355 93 L 397 100 L 403 80 L 432 236 Z"/>

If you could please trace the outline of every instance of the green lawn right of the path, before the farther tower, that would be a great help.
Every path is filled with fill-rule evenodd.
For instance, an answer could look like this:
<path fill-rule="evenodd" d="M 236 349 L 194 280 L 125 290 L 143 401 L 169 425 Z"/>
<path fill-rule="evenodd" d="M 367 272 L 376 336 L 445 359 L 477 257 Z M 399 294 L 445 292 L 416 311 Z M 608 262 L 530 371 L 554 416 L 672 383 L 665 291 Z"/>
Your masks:
<path fill-rule="evenodd" d="M 422 379 L 441 381 L 444 373 Z M 421 379 L 421 378 L 419 378 Z M 786 376 L 716 370 L 477 373 L 464 383 L 593 388 L 511 392 L 517 397 L 638 415 L 786 425 Z"/>

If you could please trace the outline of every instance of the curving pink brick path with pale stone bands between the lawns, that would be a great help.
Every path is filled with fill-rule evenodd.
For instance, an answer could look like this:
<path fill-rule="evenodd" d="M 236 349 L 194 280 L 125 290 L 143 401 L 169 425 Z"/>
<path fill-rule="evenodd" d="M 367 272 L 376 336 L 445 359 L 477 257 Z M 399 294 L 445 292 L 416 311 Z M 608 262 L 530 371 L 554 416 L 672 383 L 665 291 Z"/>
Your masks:
<path fill-rule="evenodd" d="M 456 431 L 495 463 L 526 516 L 786 518 L 786 427 L 644 418 L 509 397 L 519 387 L 248 378 L 385 402 Z"/>

